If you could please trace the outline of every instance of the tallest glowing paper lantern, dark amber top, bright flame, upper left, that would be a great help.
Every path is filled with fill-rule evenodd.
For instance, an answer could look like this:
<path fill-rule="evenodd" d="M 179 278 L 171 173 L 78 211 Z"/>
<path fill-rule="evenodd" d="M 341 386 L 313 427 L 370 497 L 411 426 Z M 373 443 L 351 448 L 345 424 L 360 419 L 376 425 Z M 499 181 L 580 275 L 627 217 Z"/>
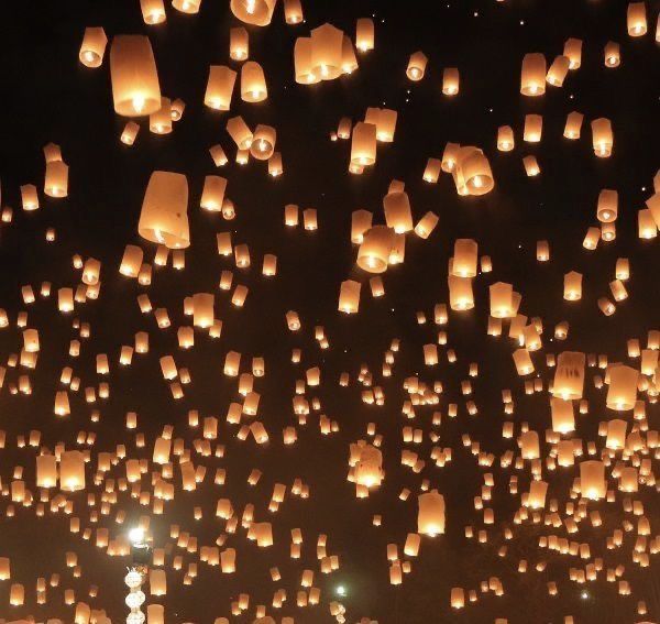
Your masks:
<path fill-rule="evenodd" d="M 110 47 L 114 111 L 124 117 L 151 114 L 161 108 L 154 53 L 144 35 L 117 35 Z"/>

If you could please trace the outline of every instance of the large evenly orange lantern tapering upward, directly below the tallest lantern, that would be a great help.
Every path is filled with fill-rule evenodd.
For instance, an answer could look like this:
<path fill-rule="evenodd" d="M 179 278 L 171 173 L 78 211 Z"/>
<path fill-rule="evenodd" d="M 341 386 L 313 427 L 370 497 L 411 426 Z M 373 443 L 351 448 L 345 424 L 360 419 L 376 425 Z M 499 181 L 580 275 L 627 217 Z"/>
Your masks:
<path fill-rule="evenodd" d="M 188 230 L 188 182 L 178 173 L 152 173 L 138 225 L 140 236 L 168 249 L 190 244 Z"/>

